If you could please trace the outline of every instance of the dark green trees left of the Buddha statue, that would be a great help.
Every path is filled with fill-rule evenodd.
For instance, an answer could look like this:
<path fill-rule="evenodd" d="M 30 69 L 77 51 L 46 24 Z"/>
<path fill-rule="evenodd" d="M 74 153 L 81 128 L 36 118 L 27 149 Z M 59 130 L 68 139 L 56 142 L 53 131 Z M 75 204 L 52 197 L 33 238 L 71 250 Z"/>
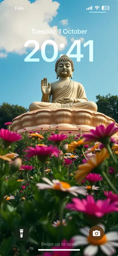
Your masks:
<path fill-rule="evenodd" d="M 4 125 L 6 122 L 11 122 L 15 117 L 26 113 L 28 111 L 27 108 L 18 105 L 11 105 L 7 102 L 3 102 L 0 105 L 0 129 L 7 129 L 7 126 Z"/>

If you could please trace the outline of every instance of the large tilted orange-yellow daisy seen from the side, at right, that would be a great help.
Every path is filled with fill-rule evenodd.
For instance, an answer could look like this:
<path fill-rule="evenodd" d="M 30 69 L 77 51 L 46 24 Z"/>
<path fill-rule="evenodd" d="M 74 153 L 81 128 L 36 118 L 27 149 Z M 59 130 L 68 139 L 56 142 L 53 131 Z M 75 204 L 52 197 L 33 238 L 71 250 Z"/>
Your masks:
<path fill-rule="evenodd" d="M 97 166 L 99 166 L 105 158 L 109 155 L 106 148 L 103 148 L 100 152 L 97 152 L 95 156 L 92 156 L 85 164 L 78 166 L 75 179 L 78 183 L 81 183 L 84 178 Z"/>

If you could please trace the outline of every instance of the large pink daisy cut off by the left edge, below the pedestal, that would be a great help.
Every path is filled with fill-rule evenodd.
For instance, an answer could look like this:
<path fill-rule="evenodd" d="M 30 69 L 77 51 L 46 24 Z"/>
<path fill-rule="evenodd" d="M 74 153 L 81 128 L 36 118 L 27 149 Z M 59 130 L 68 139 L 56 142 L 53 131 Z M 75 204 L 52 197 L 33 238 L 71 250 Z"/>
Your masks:
<path fill-rule="evenodd" d="M 11 143 L 22 139 L 22 136 L 19 133 L 1 128 L 0 138 L 3 139 L 5 145 L 10 146 Z"/>

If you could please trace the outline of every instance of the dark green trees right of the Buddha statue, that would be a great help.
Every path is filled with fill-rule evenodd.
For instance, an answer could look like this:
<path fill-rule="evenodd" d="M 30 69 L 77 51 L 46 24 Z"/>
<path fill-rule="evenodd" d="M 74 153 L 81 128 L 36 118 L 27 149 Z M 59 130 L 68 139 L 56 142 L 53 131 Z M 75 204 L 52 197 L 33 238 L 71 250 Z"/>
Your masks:
<path fill-rule="evenodd" d="M 97 111 L 113 118 L 118 123 L 118 96 L 111 95 L 110 93 L 106 96 L 99 94 L 96 96 L 96 99 Z"/>

